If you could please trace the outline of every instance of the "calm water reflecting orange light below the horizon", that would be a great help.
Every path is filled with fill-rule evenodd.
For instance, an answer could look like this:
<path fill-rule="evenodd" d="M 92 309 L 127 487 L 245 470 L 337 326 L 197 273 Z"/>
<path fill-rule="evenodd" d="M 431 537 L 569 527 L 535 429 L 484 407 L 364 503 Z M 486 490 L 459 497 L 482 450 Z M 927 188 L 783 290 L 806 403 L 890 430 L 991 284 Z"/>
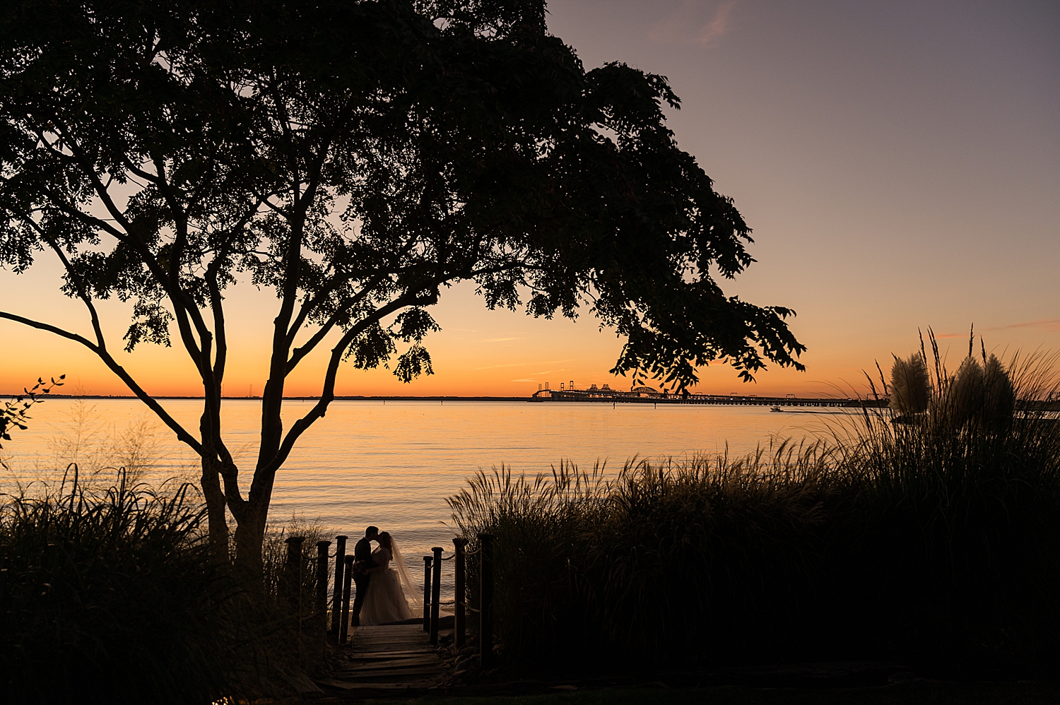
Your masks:
<path fill-rule="evenodd" d="M 200 404 L 163 402 L 192 431 Z M 225 404 L 229 447 L 241 466 L 250 468 L 260 403 Z M 285 426 L 310 406 L 286 402 Z M 452 549 L 445 497 L 478 469 L 504 463 L 534 474 L 563 459 L 585 469 L 606 461 L 615 471 L 633 456 L 683 458 L 724 452 L 726 443 L 731 454 L 742 454 L 775 438 L 812 435 L 828 418 L 757 406 L 334 402 L 278 474 L 270 516 L 283 523 L 298 514 L 350 536 L 375 524 L 394 534 L 414 570 L 430 546 Z M 151 466 L 149 481 L 198 473 L 194 456 L 132 400 L 49 401 L 35 408 L 30 429 L 16 431 L 5 446 L 5 490 L 16 481 L 54 481 L 55 469 L 70 460 L 90 470 L 136 452 L 138 462 Z"/>

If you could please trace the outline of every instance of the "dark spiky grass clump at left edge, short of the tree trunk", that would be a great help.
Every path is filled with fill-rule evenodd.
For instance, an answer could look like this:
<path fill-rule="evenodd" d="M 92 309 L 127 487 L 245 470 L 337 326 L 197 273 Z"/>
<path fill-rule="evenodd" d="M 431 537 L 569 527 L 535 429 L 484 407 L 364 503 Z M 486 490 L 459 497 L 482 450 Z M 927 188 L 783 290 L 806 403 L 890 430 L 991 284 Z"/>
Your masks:
<path fill-rule="evenodd" d="M 8 702 L 210 702 L 237 642 L 189 487 L 0 497 L 0 681 Z"/>

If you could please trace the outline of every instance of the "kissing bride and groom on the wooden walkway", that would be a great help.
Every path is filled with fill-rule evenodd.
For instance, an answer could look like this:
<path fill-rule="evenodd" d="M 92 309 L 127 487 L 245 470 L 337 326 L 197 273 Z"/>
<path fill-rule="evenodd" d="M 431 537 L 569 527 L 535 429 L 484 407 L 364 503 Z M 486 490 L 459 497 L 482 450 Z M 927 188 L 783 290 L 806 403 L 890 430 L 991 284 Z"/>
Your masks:
<path fill-rule="evenodd" d="M 378 544 L 372 549 L 372 542 Z M 365 537 L 353 547 L 353 582 L 357 594 L 353 600 L 353 625 L 388 624 L 412 618 L 409 595 L 417 599 L 412 578 L 405 567 L 398 543 L 378 527 L 365 529 Z"/>

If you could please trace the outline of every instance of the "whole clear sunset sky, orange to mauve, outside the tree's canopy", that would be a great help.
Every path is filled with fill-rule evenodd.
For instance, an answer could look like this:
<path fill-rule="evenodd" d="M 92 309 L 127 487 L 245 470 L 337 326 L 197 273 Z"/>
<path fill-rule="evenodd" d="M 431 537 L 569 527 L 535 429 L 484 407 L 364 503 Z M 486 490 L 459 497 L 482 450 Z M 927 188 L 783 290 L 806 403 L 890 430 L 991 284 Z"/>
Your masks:
<path fill-rule="evenodd" d="M 861 389 L 862 370 L 917 347 L 932 327 L 954 364 L 969 327 L 987 350 L 1060 350 L 1060 3 L 567 0 L 550 31 L 586 68 L 625 61 L 661 73 L 683 99 L 678 144 L 754 229 L 758 260 L 728 295 L 795 309 L 808 370 L 743 385 L 704 371 L 696 391 L 816 395 Z M 42 257 L 0 271 L 0 309 L 87 333 Z M 277 302 L 229 297 L 228 395 L 260 393 Z M 232 312 L 235 312 L 234 314 Z M 103 306 L 120 349 L 127 307 Z M 340 394 L 522 395 L 573 380 L 610 383 L 621 341 L 577 322 L 488 312 L 474 287 L 443 294 L 428 338 L 436 374 L 403 385 L 348 366 Z M 127 390 L 94 356 L 0 321 L 0 392 L 66 373 L 64 391 Z M 123 364 L 149 391 L 196 394 L 177 349 Z M 323 358 L 293 375 L 315 394 Z"/>

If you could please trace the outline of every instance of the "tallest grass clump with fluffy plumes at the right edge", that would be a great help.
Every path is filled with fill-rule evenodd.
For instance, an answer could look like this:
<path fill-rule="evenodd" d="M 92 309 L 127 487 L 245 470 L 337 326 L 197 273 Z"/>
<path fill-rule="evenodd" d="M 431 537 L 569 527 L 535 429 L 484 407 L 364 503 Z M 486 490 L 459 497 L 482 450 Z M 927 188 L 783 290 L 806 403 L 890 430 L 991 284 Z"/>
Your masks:
<path fill-rule="evenodd" d="M 1060 630 L 1057 358 L 1004 366 L 983 352 L 951 375 L 932 347 L 920 415 L 833 429 L 846 527 L 834 552 L 865 557 L 845 594 L 855 604 L 853 585 L 868 584 L 887 600 L 862 619 L 889 644 L 1044 666 Z"/>

